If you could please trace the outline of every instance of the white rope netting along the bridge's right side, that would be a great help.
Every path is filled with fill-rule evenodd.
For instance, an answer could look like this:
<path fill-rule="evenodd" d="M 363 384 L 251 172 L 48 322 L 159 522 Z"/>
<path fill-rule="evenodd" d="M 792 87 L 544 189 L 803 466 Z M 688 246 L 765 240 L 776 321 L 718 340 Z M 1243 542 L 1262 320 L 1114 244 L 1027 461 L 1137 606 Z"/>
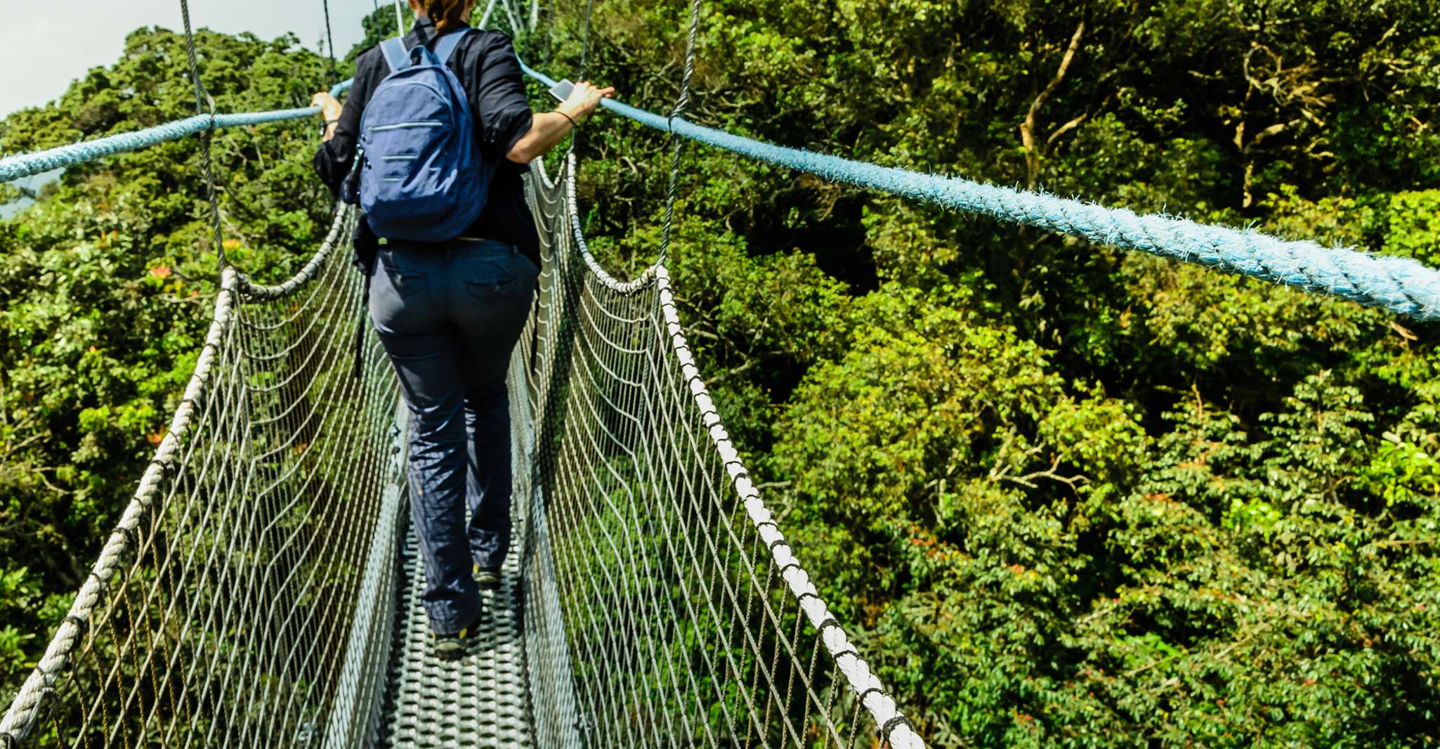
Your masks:
<path fill-rule="evenodd" d="M 923 746 L 752 487 L 664 265 L 605 274 L 560 186 L 520 367 L 533 412 L 526 628 L 540 746 Z M 566 194 L 567 193 L 567 194 Z M 863 699 L 861 699 L 863 697 Z"/>

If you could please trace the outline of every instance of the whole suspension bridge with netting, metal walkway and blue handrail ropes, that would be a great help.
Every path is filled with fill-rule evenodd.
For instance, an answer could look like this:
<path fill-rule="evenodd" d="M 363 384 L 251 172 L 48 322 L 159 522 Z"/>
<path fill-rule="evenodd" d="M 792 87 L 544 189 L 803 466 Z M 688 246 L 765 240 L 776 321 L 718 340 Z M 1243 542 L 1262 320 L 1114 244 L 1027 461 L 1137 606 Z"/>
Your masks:
<path fill-rule="evenodd" d="M 605 107 L 831 180 L 1440 318 L 1440 274 L 1410 259 L 691 124 L 697 10 L 675 109 Z M 192 76 L 199 105 L 193 53 Z M 314 114 L 202 108 L 3 158 L 0 180 Z M 0 746 L 924 746 L 726 434 L 675 310 L 670 222 L 661 259 L 619 281 L 586 248 L 573 151 L 553 179 L 533 163 L 526 192 L 543 269 L 510 363 L 516 532 L 468 655 L 431 654 L 405 513 L 408 412 L 373 336 L 356 360 L 359 216 L 338 205 L 292 278 L 222 268 L 180 406 L 0 719 Z"/>

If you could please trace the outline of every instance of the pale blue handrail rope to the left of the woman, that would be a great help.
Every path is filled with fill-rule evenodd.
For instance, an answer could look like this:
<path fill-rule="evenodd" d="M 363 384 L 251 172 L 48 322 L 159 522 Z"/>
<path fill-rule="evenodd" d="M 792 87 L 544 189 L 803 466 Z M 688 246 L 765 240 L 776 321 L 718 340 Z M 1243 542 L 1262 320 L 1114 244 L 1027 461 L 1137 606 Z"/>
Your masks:
<path fill-rule="evenodd" d="M 343 81 L 330 89 L 338 97 L 350 89 L 351 81 Z M 259 125 L 264 122 L 278 122 L 282 120 L 301 120 L 320 114 L 318 107 L 304 107 L 300 109 L 274 109 L 268 112 L 239 112 L 215 115 L 216 128 Z M 179 140 L 194 135 L 210 128 L 210 115 L 197 114 L 184 120 L 176 120 L 163 125 L 156 125 L 134 133 L 120 133 L 92 141 L 72 143 L 58 148 L 36 151 L 33 154 L 17 154 L 0 158 L 0 183 L 29 177 L 52 169 L 69 167 L 84 161 L 91 161 L 102 156 L 135 151 L 157 143 Z"/>

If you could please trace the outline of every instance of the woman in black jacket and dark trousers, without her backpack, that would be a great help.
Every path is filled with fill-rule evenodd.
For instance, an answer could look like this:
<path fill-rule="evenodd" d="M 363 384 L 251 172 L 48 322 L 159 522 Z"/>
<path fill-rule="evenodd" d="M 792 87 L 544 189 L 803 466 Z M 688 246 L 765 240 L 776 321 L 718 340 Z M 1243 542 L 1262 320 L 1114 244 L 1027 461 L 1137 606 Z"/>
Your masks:
<path fill-rule="evenodd" d="M 433 50 L 442 35 L 467 29 L 475 0 L 409 3 L 418 17 L 405 48 Z M 474 114 L 480 156 L 495 170 L 485 206 L 469 229 L 441 243 L 386 241 L 361 222 L 356 254 L 370 279 L 370 321 L 410 409 L 410 516 L 425 560 L 423 604 L 436 654 L 454 660 L 480 618 L 480 588 L 500 586 L 510 544 L 505 370 L 540 272 L 520 176 L 615 89 L 580 82 L 554 111 L 531 112 L 520 60 L 498 32 L 467 33 L 446 65 Z M 315 171 L 337 193 L 356 158 L 366 102 L 389 72 L 382 50 L 367 49 L 344 107 L 324 92 L 312 99 L 325 118 Z"/>

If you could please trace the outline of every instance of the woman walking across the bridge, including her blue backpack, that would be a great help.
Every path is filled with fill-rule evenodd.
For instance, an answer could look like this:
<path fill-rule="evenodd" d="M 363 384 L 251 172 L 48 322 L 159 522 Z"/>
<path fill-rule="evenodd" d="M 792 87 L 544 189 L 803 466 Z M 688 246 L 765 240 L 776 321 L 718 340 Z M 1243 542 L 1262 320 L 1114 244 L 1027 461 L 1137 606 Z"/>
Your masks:
<path fill-rule="evenodd" d="M 315 94 L 315 170 L 364 210 L 354 246 L 370 321 L 410 411 L 423 604 L 436 652 L 454 660 L 510 546 L 505 372 L 540 272 L 521 174 L 613 89 L 580 82 L 533 112 L 510 39 L 465 23 L 474 0 L 409 3 L 410 32 L 360 53 L 344 107 Z"/>

